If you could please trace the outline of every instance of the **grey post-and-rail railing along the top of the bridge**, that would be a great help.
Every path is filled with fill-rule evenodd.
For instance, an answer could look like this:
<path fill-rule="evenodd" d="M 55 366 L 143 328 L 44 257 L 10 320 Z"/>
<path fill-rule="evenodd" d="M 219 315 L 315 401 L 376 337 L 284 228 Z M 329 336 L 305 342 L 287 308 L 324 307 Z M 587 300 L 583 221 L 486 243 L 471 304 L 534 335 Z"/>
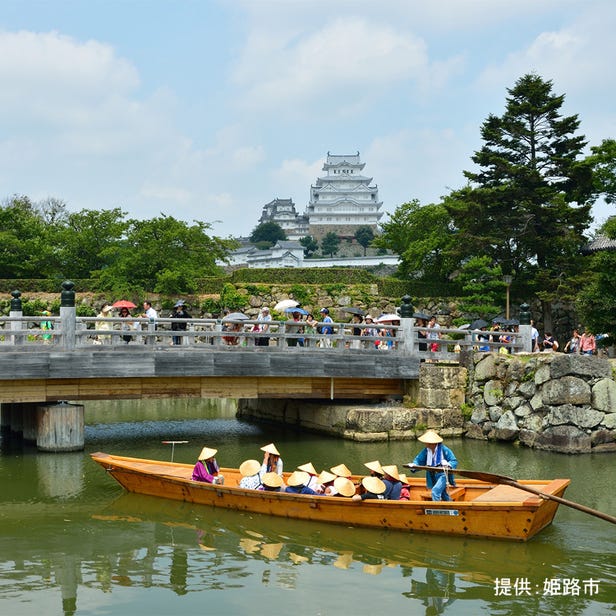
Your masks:
<path fill-rule="evenodd" d="M 265 323 L 257 320 L 172 319 L 152 321 L 130 317 L 77 317 L 64 310 L 60 317 L 0 317 L 0 352 L 36 350 L 40 345 L 63 349 L 84 347 L 129 348 L 152 345 L 157 348 L 182 346 L 194 349 L 246 348 L 255 351 L 274 347 L 293 352 L 310 348 L 323 351 L 351 349 L 357 351 L 389 351 L 419 355 L 434 361 L 459 361 L 468 351 L 519 353 L 530 351 L 530 326 L 518 332 L 483 331 L 458 328 L 416 327 L 414 319 L 401 319 L 400 325 L 373 324 L 370 328 L 358 323 L 331 323 L 332 334 L 294 321 L 269 321 L 267 331 L 259 331 Z M 51 328 L 49 328 L 51 326 Z M 176 329 L 174 329 L 174 327 Z M 180 328 L 180 329 L 177 329 Z M 185 328 L 185 329 L 184 329 Z M 360 329 L 362 335 L 354 335 Z M 426 336 L 426 337 L 423 337 Z M 501 350 L 504 349 L 504 350 Z"/>

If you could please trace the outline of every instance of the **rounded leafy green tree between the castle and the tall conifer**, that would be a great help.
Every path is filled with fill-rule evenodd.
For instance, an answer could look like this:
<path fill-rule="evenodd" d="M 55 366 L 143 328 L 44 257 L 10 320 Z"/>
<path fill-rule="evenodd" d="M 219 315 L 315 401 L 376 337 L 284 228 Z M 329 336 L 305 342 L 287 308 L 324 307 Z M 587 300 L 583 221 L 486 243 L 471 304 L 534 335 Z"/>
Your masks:
<path fill-rule="evenodd" d="M 403 203 L 382 224 L 373 245 L 400 256 L 398 276 L 445 282 L 457 262 L 451 257 L 455 240 L 451 217 L 442 204 Z"/>

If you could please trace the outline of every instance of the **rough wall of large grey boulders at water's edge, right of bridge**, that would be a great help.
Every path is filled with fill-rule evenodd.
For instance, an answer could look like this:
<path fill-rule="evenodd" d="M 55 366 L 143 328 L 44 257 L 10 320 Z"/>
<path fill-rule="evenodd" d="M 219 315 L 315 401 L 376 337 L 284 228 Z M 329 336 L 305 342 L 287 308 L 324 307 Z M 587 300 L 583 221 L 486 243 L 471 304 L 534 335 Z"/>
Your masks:
<path fill-rule="evenodd" d="M 542 353 L 475 356 L 466 436 L 564 453 L 616 451 L 610 361 Z"/>

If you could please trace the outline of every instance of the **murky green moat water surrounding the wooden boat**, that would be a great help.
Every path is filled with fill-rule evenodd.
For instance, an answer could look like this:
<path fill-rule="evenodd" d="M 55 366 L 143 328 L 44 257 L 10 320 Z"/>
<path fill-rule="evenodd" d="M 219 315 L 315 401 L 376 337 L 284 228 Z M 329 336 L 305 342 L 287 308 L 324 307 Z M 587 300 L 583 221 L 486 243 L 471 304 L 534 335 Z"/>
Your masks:
<path fill-rule="evenodd" d="M 268 518 L 126 494 L 88 453 L 169 459 L 203 445 L 224 466 L 274 441 L 285 468 L 378 458 L 415 443 L 353 443 L 239 422 L 232 403 L 88 403 L 86 451 L 0 440 L 0 614 L 614 614 L 616 527 L 561 506 L 528 543 Z M 616 514 L 614 456 L 448 442 L 461 466 L 570 477 L 566 497 Z"/>

